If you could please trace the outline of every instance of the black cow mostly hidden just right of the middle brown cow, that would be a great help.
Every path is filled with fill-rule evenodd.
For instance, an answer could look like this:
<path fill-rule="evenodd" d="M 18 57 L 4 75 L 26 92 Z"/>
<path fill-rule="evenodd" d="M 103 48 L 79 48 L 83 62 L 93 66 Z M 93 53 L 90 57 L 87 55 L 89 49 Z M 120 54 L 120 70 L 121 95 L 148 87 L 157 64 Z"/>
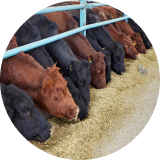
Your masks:
<path fill-rule="evenodd" d="M 78 22 L 78 26 L 80 26 L 79 24 L 79 18 L 72 15 L 72 17 Z M 102 49 L 102 47 L 98 44 L 96 38 L 93 36 L 93 34 L 87 30 L 86 31 L 86 38 L 88 39 L 89 43 L 91 44 L 91 46 L 94 48 L 94 50 L 96 52 L 102 52 L 103 54 L 105 54 L 104 57 L 104 61 L 106 64 L 106 69 L 105 69 L 105 76 L 106 76 L 106 84 L 111 80 L 111 57 L 110 57 L 110 53 L 104 49 Z"/>

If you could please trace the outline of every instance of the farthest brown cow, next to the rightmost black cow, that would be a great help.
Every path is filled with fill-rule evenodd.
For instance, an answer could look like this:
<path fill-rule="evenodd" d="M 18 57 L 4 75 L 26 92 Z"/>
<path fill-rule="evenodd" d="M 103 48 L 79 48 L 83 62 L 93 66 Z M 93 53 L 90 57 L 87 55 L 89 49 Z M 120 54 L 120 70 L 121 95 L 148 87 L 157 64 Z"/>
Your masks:
<path fill-rule="evenodd" d="M 109 12 L 113 16 L 113 18 L 119 18 L 123 16 L 121 12 L 117 11 L 114 7 L 101 6 L 100 9 Z M 116 22 L 116 25 L 118 27 L 118 31 L 120 30 L 121 32 L 126 33 L 126 35 L 128 35 L 132 39 L 132 42 L 138 52 L 146 53 L 146 47 L 139 33 L 134 32 L 125 20 Z"/>

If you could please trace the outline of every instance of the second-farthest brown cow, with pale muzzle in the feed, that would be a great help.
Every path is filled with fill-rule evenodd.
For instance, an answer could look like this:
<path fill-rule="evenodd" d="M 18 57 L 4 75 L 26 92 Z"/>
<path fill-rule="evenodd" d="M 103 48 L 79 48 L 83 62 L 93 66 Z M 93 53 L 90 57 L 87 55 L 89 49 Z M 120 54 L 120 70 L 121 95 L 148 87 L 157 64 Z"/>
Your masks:
<path fill-rule="evenodd" d="M 106 12 L 105 10 L 101 10 L 99 7 L 95 7 L 91 9 L 95 13 L 98 14 L 100 21 L 106 21 L 112 19 L 112 15 Z M 109 17 L 109 18 L 108 18 Z M 125 33 L 119 33 L 112 24 L 104 25 L 104 27 L 108 30 L 110 35 L 115 41 L 121 42 L 124 45 L 125 57 L 128 59 L 137 59 L 140 54 L 137 52 L 135 47 L 132 44 L 131 39 Z"/>

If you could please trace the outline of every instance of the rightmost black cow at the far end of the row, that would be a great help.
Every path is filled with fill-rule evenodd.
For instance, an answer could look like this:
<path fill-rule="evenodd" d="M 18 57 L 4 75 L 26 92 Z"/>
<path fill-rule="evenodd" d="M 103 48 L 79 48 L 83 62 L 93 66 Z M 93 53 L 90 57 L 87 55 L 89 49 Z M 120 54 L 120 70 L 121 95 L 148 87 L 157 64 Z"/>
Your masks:
<path fill-rule="evenodd" d="M 130 25 L 130 27 L 133 29 L 134 32 L 137 32 L 141 35 L 142 39 L 143 39 L 143 43 L 146 47 L 146 49 L 150 49 L 152 47 L 151 42 L 148 40 L 146 33 L 144 32 L 144 30 L 137 24 L 137 22 L 132 19 L 129 18 L 128 19 L 128 24 Z"/>

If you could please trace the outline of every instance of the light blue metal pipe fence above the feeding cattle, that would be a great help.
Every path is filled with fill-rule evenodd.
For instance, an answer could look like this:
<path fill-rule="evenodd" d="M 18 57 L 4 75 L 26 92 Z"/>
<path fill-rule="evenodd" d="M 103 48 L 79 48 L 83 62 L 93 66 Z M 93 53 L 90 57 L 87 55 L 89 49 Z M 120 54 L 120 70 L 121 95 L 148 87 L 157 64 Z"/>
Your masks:
<path fill-rule="evenodd" d="M 86 0 L 80 0 L 80 4 L 68 5 L 68 6 L 58 6 L 58 7 L 0 7 L 0 14 L 43 14 L 57 11 L 66 11 L 80 9 L 80 27 L 49 37 L 36 42 L 32 42 L 21 47 L 17 47 L 4 52 L 3 58 L 8 58 L 18 54 L 20 51 L 26 52 L 31 49 L 46 45 L 48 43 L 57 41 L 59 39 L 71 36 L 78 32 L 82 32 L 86 36 L 86 30 L 99 27 L 102 25 L 107 25 L 117 21 L 128 20 L 132 17 L 160 17 L 160 13 L 124 13 L 124 17 L 107 20 L 103 22 L 98 22 L 90 25 L 86 25 L 86 9 L 92 9 L 98 6 L 107 6 L 107 5 L 160 5 L 160 2 L 99 2 L 99 3 L 86 3 Z"/>

